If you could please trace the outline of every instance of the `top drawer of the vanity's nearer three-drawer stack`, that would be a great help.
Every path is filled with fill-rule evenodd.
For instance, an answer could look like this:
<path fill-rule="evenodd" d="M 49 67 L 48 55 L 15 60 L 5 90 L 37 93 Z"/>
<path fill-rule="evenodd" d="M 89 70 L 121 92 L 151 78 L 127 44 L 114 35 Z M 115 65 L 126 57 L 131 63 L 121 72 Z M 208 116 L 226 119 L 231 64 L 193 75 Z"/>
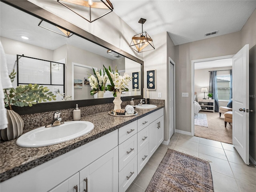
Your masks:
<path fill-rule="evenodd" d="M 118 144 L 121 144 L 137 133 L 137 121 L 125 125 L 118 129 Z"/>

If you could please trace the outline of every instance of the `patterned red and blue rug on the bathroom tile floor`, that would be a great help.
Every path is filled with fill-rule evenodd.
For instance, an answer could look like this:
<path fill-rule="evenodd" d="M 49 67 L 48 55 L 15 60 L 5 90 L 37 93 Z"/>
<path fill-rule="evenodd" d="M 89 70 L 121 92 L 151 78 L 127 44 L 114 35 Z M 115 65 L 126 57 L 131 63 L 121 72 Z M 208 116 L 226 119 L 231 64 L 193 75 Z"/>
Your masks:
<path fill-rule="evenodd" d="M 213 192 L 210 163 L 168 149 L 146 192 Z"/>

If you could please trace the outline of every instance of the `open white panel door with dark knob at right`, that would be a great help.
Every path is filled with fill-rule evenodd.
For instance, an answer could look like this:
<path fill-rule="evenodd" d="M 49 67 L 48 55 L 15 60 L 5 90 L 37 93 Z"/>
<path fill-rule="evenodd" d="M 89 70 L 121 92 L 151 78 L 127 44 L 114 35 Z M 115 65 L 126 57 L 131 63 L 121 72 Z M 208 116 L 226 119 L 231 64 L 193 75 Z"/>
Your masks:
<path fill-rule="evenodd" d="M 249 45 L 232 58 L 233 115 L 232 142 L 242 159 L 249 164 Z"/>

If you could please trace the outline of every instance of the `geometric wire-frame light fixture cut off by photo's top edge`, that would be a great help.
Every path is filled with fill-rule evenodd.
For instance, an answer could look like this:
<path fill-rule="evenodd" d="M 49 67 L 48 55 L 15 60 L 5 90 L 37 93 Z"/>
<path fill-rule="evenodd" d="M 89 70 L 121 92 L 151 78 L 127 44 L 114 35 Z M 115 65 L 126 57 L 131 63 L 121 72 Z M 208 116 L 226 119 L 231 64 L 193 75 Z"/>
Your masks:
<path fill-rule="evenodd" d="M 88 0 L 88 1 L 57 0 L 57 1 L 90 23 L 112 12 L 114 9 L 110 0 Z"/>

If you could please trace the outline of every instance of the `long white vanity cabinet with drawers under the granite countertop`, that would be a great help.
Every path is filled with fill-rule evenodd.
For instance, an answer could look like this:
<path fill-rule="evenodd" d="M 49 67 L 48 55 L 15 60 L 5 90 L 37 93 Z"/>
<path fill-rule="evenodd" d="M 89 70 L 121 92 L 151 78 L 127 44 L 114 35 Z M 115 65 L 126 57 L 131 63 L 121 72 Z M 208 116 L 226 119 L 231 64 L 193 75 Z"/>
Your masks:
<path fill-rule="evenodd" d="M 0 184 L 3 192 L 125 192 L 164 140 L 161 108 Z"/>

